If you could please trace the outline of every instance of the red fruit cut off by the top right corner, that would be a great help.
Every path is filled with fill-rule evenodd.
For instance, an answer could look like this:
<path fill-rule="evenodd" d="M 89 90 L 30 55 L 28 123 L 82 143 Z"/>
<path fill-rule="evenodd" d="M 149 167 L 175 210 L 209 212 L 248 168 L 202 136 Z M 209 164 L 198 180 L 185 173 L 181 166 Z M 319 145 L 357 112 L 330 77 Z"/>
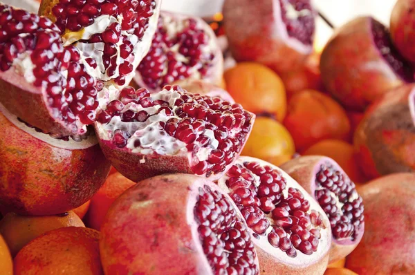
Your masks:
<path fill-rule="evenodd" d="M 412 62 L 415 62 L 414 8 L 414 0 L 398 0 L 391 14 L 392 40 L 400 53 Z"/>

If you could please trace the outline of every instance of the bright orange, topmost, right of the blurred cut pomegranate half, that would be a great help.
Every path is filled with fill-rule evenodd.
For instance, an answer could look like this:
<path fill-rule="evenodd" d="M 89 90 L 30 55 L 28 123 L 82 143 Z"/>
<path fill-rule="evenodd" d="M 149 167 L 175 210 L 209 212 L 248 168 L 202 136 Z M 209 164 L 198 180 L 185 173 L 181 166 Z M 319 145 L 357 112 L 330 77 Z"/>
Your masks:
<path fill-rule="evenodd" d="M 287 99 L 284 84 L 273 70 L 243 62 L 225 71 L 226 88 L 236 102 L 256 114 L 268 114 L 282 122 Z"/>

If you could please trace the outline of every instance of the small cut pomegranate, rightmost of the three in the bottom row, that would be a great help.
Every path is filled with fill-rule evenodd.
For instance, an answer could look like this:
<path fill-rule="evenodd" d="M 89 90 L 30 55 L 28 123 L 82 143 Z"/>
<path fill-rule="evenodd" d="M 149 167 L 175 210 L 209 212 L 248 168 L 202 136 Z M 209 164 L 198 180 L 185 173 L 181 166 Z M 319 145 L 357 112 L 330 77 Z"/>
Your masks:
<path fill-rule="evenodd" d="M 281 168 L 317 200 L 330 220 L 329 263 L 353 251 L 365 231 L 362 198 L 356 185 L 331 158 L 317 155 L 295 158 Z"/>

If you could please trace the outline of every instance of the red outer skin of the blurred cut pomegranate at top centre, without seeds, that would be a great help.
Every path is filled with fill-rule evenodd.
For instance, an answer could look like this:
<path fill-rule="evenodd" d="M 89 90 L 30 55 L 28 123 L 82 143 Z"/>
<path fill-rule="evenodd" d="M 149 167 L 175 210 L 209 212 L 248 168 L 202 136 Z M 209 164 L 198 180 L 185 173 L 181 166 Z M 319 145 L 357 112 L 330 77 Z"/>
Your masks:
<path fill-rule="evenodd" d="M 279 1 L 226 0 L 223 19 L 237 61 L 256 61 L 282 73 L 298 67 L 313 51 L 288 37 Z"/>

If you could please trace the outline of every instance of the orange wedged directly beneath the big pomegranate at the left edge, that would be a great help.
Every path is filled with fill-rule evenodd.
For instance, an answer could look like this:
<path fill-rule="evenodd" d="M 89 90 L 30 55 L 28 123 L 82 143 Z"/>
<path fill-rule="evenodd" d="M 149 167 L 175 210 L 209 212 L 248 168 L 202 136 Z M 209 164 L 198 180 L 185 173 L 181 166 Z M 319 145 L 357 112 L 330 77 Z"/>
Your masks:
<path fill-rule="evenodd" d="M 12 256 L 38 236 L 61 227 L 85 227 L 73 211 L 55 216 L 19 216 L 8 213 L 0 221 L 0 234 L 10 248 Z"/>

